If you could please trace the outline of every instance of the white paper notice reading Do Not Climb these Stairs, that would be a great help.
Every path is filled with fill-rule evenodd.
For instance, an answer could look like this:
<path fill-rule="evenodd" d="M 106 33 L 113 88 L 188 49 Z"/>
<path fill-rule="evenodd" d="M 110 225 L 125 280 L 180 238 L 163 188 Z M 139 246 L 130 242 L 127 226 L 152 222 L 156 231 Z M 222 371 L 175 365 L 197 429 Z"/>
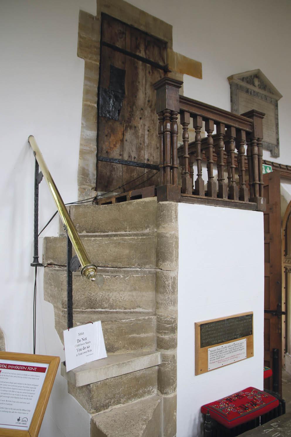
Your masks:
<path fill-rule="evenodd" d="M 64 331 L 66 370 L 106 358 L 101 322 L 88 323 Z"/>

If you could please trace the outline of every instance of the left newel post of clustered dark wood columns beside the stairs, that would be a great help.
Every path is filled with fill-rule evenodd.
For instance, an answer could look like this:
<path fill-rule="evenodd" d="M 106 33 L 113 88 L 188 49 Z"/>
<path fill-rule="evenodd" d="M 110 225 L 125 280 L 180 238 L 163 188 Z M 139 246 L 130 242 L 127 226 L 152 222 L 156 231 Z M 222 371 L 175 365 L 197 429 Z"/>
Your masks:
<path fill-rule="evenodd" d="M 178 186 L 177 118 L 180 112 L 179 89 L 183 82 L 163 77 L 154 84 L 156 90 L 156 113 L 159 117 L 159 169 L 160 186 L 158 201 L 178 201 L 181 187 Z M 186 168 L 185 168 L 185 171 Z"/>

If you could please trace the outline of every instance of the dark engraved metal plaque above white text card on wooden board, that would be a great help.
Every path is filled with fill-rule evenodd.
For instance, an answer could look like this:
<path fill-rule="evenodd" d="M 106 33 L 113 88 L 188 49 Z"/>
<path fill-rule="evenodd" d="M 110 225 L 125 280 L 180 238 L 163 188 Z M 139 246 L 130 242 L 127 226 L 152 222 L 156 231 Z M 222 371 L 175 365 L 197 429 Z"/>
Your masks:
<path fill-rule="evenodd" d="M 200 347 L 213 346 L 218 343 L 236 340 L 252 335 L 253 314 L 201 323 Z"/>

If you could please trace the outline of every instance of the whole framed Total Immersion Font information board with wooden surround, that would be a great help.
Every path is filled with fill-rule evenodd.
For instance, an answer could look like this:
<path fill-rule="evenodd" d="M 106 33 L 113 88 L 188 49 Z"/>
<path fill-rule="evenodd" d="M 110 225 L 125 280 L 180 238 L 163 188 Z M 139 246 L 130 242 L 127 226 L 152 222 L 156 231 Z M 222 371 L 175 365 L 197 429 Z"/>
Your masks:
<path fill-rule="evenodd" d="M 0 437 L 38 436 L 59 361 L 0 352 Z"/>

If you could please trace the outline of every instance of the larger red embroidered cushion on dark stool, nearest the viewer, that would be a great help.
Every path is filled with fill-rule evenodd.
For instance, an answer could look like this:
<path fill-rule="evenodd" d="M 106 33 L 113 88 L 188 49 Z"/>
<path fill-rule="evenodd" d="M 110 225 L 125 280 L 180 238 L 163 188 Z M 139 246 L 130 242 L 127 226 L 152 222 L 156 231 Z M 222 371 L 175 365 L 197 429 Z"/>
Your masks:
<path fill-rule="evenodd" d="M 241 392 L 203 405 L 201 413 L 206 414 L 209 409 L 212 419 L 226 428 L 233 428 L 268 413 L 278 405 L 279 401 L 274 396 L 257 388 L 248 387 Z"/>

